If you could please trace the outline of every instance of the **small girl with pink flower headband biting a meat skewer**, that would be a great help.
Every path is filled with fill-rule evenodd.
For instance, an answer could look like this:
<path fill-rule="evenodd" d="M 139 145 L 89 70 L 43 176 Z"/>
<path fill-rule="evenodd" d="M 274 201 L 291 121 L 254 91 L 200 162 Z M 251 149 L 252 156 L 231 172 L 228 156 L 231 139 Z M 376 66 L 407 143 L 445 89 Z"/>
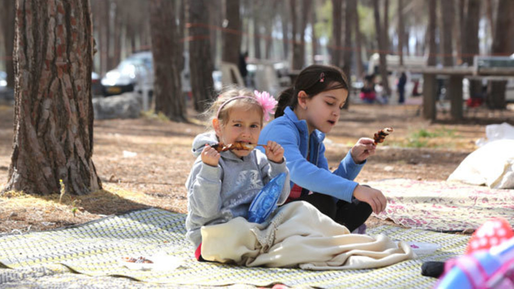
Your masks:
<path fill-rule="evenodd" d="M 223 142 L 256 144 L 263 118 L 277 101 L 268 93 L 251 93 L 247 89 L 227 88 L 212 103 L 209 113 L 213 132 L 199 134 L 193 141 L 197 155 L 186 182 L 188 216 L 186 237 L 202 260 L 201 226 L 226 223 L 237 216 L 247 217 L 253 198 L 273 177 L 286 172 L 284 149 L 267 141 L 265 154 L 259 150 L 229 150 L 218 153 L 212 145 Z M 278 203 L 289 195 L 287 175 Z"/>

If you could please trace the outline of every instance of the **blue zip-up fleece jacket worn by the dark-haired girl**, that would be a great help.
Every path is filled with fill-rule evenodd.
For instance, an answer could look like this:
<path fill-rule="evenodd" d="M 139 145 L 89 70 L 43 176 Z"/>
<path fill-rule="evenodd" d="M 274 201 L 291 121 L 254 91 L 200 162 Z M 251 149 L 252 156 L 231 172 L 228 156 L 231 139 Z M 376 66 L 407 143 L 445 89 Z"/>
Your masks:
<path fill-rule="evenodd" d="M 355 164 L 348 152 L 337 170 L 329 171 L 323 145 L 324 138 L 325 134 L 318 130 L 314 130 L 309 138 L 307 122 L 298 120 L 295 112 L 286 107 L 282 117 L 272 120 L 264 127 L 259 136 L 259 143 L 273 140 L 284 148 L 291 188 L 294 183 L 309 191 L 351 202 L 353 191 L 358 185 L 353 179 L 359 174 L 365 161 L 359 165 Z M 310 144 L 307 146 L 309 139 Z M 306 159 L 307 147 L 310 148 L 309 160 Z"/>

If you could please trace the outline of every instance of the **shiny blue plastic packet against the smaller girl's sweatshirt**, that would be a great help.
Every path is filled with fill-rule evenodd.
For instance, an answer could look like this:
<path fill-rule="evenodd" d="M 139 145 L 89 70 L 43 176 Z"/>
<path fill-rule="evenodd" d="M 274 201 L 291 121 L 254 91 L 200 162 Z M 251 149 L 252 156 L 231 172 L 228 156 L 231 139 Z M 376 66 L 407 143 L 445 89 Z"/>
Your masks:
<path fill-rule="evenodd" d="M 248 210 L 249 222 L 262 223 L 277 209 L 277 202 L 284 188 L 285 180 L 286 173 L 279 174 L 271 179 L 255 198 L 253 198 L 250 209 Z"/>

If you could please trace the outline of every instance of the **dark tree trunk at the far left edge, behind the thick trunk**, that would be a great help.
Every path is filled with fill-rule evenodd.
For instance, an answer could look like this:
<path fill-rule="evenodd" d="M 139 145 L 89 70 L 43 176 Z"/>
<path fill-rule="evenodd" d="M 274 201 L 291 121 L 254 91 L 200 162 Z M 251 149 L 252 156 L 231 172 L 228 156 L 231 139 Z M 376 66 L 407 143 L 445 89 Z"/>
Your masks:
<path fill-rule="evenodd" d="M 7 86 L 14 88 L 14 65 L 13 65 L 13 49 L 14 49 L 14 1 L 3 0 L 0 27 L 4 37 L 5 69 L 7 73 Z"/>

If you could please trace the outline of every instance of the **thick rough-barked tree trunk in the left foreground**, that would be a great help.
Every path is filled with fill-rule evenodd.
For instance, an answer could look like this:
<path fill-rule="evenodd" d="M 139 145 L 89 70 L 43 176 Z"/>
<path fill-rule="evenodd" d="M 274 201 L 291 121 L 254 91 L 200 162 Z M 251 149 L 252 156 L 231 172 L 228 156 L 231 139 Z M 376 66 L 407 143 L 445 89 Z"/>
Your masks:
<path fill-rule="evenodd" d="M 16 1 L 14 141 L 5 190 L 101 189 L 93 155 L 88 0 Z"/>

